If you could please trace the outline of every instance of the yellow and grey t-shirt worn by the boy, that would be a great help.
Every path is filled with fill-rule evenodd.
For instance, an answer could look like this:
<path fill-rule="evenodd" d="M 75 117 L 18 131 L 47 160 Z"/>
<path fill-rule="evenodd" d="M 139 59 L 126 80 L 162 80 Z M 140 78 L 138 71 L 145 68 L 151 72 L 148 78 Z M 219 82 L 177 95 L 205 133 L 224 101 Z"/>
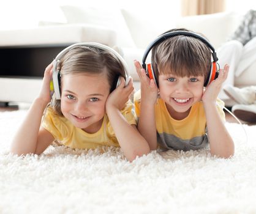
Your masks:
<path fill-rule="evenodd" d="M 140 117 L 140 90 L 134 95 L 135 113 Z M 220 117 L 225 120 L 224 102 L 217 99 Z M 190 108 L 183 120 L 175 120 L 169 114 L 164 100 L 157 98 L 155 105 L 157 142 L 160 146 L 175 150 L 197 150 L 208 144 L 205 109 L 201 101 Z"/>

